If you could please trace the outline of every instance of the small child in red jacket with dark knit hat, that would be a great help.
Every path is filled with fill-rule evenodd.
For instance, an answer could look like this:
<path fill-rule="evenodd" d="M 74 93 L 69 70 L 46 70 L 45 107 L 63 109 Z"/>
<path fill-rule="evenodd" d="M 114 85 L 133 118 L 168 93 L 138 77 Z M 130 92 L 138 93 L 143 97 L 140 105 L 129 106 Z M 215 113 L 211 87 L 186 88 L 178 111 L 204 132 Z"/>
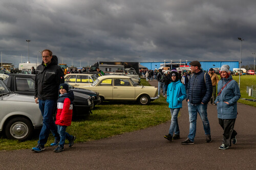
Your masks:
<path fill-rule="evenodd" d="M 59 99 L 57 103 L 57 114 L 55 124 L 58 126 L 58 134 L 60 136 L 59 145 L 54 152 L 64 150 L 65 139 L 69 140 L 69 147 L 74 144 L 75 136 L 66 132 L 67 126 L 71 125 L 74 93 L 69 91 L 69 86 L 65 83 L 59 85 Z"/>

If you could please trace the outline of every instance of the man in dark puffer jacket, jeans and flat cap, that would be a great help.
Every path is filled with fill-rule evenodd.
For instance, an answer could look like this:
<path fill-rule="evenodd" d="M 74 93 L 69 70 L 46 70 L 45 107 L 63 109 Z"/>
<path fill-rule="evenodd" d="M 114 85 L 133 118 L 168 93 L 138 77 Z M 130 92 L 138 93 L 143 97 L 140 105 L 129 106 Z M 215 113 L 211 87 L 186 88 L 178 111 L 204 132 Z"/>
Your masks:
<path fill-rule="evenodd" d="M 206 135 L 206 142 L 211 142 L 210 125 L 207 118 L 207 104 L 212 94 L 212 84 L 208 73 L 203 72 L 199 61 L 189 63 L 194 73 L 187 86 L 187 105 L 189 113 L 189 134 L 182 144 L 194 144 L 197 127 L 197 112 L 199 113 Z"/>

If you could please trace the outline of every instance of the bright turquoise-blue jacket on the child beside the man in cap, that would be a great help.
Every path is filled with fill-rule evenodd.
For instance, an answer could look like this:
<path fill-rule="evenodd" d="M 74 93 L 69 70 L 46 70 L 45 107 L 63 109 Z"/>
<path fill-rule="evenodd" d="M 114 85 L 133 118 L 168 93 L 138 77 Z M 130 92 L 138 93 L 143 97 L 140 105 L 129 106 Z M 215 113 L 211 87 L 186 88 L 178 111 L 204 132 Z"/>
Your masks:
<path fill-rule="evenodd" d="M 169 108 L 182 108 L 182 101 L 184 99 L 186 99 L 186 89 L 180 80 L 170 83 L 167 88 L 166 99 L 166 102 L 169 104 Z"/>

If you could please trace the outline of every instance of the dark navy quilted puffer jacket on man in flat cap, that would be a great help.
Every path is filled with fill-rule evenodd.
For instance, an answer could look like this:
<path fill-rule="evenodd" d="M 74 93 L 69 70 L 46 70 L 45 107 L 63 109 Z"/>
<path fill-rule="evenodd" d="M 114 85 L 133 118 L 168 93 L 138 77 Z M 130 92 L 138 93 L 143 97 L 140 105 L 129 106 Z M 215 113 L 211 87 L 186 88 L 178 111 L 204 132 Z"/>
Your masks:
<path fill-rule="evenodd" d="M 205 78 L 204 78 L 205 77 Z M 212 94 L 212 84 L 208 73 L 200 70 L 191 75 L 187 86 L 187 98 L 191 104 L 207 104 Z"/>

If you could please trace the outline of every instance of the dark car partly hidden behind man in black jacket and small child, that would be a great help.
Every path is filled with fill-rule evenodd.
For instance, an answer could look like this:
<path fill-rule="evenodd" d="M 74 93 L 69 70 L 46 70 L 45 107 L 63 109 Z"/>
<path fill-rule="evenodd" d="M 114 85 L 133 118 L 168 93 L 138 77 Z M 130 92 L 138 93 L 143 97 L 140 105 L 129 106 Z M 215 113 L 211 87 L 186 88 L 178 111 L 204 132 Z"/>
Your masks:
<path fill-rule="evenodd" d="M 4 83 L 15 93 L 34 96 L 35 75 L 10 74 Z M 73 89 L 70 90 L 73 91 Z M 75 96 L 73 101 L 73 117 L 88 117 L 94 107 L 93 99 L 85 92 L 81 93 L 78 90 L 73 92 Z"/>

